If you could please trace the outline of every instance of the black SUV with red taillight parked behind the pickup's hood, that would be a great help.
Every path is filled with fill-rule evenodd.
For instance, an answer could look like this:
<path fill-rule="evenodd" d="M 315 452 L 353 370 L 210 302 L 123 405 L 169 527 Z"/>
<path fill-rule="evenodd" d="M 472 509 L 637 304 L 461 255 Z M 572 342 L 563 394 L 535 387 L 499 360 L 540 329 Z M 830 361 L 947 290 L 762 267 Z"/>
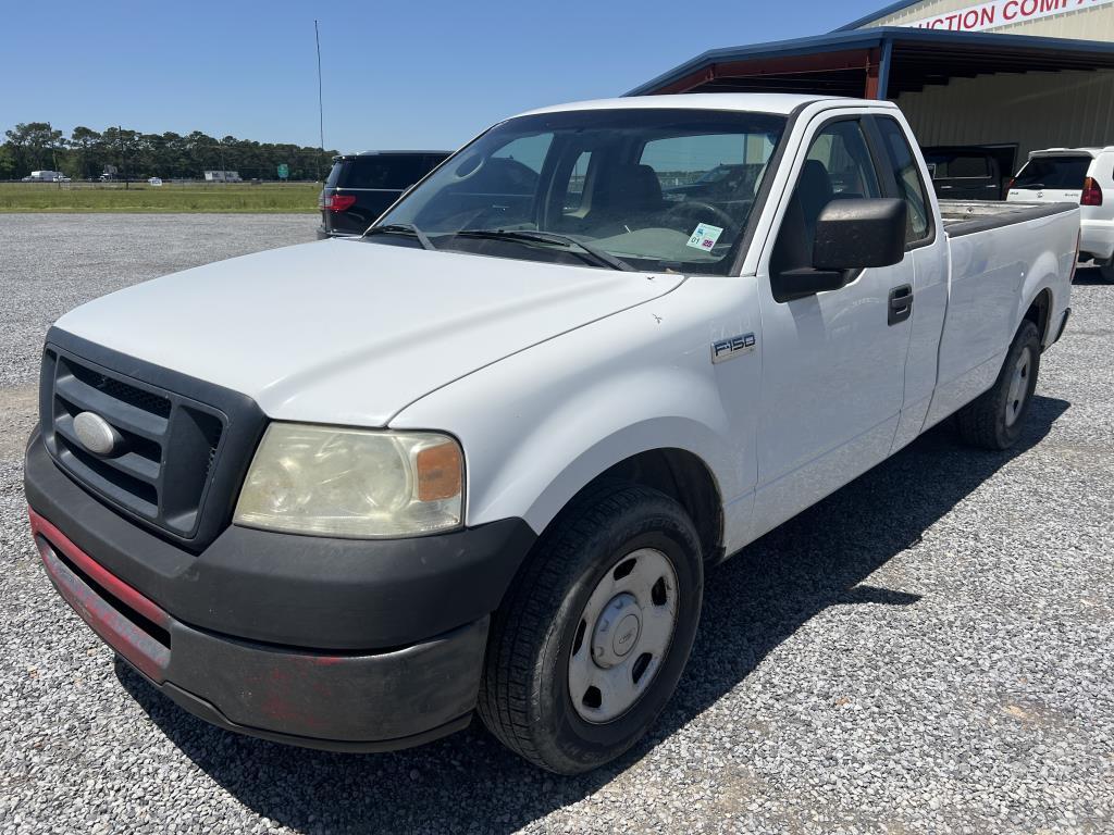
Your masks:
<path fill-rule="evenodd" d="M 448 156 L 446 150 L 370 150 L 333 157 L 333 169 L 317 198 L 317 237 L 362 235 L 403 191 Z"/>

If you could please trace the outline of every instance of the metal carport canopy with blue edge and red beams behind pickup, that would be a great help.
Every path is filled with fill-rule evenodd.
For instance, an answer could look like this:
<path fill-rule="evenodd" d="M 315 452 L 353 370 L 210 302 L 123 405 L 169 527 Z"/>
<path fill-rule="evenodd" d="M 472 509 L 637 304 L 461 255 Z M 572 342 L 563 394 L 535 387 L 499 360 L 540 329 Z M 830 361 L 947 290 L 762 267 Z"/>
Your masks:
<path fill-rule="evenodd" d="M 1114 43 L 878 27 L 710 50 L 626 95 L 765 91 L 882 99 L 951 78 L 1096 69 L 1114 69 Z"/>

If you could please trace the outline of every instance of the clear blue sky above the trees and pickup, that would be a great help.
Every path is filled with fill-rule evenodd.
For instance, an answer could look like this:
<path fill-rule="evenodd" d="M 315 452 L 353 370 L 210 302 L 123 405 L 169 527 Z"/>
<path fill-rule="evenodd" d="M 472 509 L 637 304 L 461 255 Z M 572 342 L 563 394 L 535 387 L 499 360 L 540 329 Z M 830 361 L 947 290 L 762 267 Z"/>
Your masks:
<path fill-rule="evenodd" d="M 619 95 L 706 49 L 819 35 L 873 2 L 8 3 L 0 131 L 19 121 L 452 148 L 543 105 Z"/>

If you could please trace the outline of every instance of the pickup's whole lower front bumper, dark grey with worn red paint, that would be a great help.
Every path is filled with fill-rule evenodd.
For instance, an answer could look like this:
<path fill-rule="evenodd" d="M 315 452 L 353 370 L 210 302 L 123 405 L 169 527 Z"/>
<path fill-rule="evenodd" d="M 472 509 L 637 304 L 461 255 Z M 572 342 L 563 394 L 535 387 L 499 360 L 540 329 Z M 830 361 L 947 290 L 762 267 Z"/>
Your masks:
<path fill-rule="evenodd" d="M 47 518 L 31 508 L 28 514 L 47 574 L 62 598 L 159 691 L 206 721 L 275 741 L 350 752 L 410 747 L 469 721 L 487 645 L 486 617 L 388 651 L 320 652 L 218 635 L 183 622 Z M 77 536 L 79 523 L 70 523 Z M 274 617 L 282 617 L 281 610 Z M 322 618 L 328 617 L 324 610 Z"/>

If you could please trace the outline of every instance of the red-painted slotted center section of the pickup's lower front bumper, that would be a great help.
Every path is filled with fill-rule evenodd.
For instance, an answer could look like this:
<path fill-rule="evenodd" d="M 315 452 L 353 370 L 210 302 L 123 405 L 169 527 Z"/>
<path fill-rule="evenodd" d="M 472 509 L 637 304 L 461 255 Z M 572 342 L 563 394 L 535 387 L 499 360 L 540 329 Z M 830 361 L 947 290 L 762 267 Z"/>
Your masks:
<path fill-rule="evenodd" d="M 165 681 L 166 669 L 170 662 L 170 648 L 135 621 L 146 619 L 168 635 L 170 617 L 106 570 L 31 508 L 28 508 L 28 515 L 42 564 L 66 602 L 106 644 L 128 659 L 145 676 L 158 684 Z M 63 560 L 59 559 L 59 553 L 94 584 L 72 571 Z M 128 609 L 139 618 L 129 618 L 126 613 Z"/>

